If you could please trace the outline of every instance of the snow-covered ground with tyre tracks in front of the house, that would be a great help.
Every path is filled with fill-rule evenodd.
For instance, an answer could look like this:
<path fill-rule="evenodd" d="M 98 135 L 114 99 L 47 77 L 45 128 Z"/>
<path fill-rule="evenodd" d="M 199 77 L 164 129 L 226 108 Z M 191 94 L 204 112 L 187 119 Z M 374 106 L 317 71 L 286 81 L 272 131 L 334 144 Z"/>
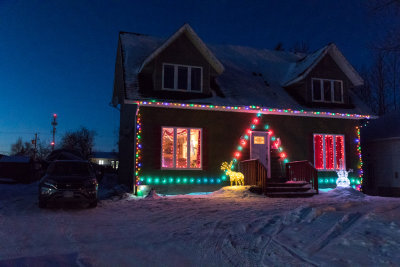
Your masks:
<path fill-rule="evenodd" d="M 208 195 L 37 206 L 37 184 L 0 184 L 0 266 L 396 266 L 400 199 L 352 189 L 266 198 Z"/>

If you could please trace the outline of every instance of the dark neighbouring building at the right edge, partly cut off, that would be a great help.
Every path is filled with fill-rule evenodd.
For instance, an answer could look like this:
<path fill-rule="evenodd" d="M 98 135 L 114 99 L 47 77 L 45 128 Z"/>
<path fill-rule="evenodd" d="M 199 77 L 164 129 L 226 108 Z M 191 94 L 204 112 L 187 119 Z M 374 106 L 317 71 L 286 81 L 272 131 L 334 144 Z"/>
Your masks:
<path fill-rule="evenodd" d="M 400 196 L 400 112 L 371 120 L 362 128 L 365 192 Z"/>

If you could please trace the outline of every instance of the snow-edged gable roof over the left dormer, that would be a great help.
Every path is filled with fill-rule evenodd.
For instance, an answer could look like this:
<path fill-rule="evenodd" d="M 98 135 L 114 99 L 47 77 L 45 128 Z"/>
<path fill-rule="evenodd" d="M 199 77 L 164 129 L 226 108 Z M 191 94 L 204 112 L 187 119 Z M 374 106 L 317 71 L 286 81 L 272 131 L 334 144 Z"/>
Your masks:
<path fill-rule="evenodd" d="M 203 43 L 199 36 L 194 32 L 189 24 L 184 24 L 178 31 L 176 31 L 171 37 L 169 37 L 161 46 L 159 46 L 153 53 L 151 53 L 142 63 L 139 68 L 139 72 L 156 58 L 162 51 L 164 51 L 170 44 L 172 44 L 178 37 L 182 34 L 186 34 L 193 45 L 199 50 L 199 52 L 204 56 L 204 58 L 210 63 L 214 70 L 221 74 L 224 71 L 224 66 L 221 62 L 214 56 L 214 54 L 208 49 L 208 47 Z"/>

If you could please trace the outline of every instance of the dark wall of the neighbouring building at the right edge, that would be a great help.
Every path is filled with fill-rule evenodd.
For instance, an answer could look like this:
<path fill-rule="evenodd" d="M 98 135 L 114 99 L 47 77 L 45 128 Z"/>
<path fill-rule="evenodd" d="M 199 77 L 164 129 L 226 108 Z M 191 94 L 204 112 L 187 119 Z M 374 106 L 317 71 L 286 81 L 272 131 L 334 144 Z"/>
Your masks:
<path fill-rule="evenodd" d="M 400 138 L 363 144 L 366 192 L 400 196 Z"/>

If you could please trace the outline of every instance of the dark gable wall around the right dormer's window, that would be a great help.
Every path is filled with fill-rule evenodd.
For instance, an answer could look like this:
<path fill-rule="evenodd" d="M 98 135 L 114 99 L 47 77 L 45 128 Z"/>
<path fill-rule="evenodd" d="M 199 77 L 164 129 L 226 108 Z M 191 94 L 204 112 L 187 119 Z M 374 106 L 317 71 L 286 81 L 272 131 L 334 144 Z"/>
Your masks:
<path fill-rule="evenodd" d="M 333 79 L 343 81 L 343 104 L 338 103 L 316 103 L 312 102 L 312 78 Z M 321 61 L 310 71 L 310 73 L 300 82 L 287 88 L 290 94 L 295 96 L 302 104 L 308 106 L 324 106 L 324 107 L 352 107 L 349 98 L 349 89 L 353 87 L 352 82 L 346 74 L 336 64 L 334 59 L 327 54 Z"/>

